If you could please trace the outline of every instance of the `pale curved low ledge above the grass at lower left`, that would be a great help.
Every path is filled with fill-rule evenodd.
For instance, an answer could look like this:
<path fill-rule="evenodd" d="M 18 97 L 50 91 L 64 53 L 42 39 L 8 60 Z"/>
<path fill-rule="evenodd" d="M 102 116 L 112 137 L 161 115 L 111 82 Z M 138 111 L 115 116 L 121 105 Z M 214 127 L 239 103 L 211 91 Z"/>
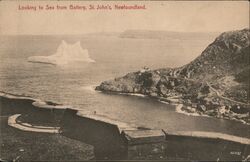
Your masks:
<path fill-rule="evenodd" d="M 8 118 L 8 125 L 23 131 L 41 132 L 41 133 L 59 133 L 59 127 L 33 126 L 28 123 L 17 123 L 16 119 L 21 114 L 15 114 Z"/>

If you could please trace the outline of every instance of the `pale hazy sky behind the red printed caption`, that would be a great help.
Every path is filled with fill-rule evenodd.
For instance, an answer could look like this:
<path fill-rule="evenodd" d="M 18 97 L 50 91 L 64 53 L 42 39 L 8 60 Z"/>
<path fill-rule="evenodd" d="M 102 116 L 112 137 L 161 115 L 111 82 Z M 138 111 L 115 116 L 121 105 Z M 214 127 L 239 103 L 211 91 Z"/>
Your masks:
<path fill-rule="evenodd" d="M 145 10 L 19 10 L 19 6 L 145 5 Z M 249 28 L 247 1 L 0 1 L 0 35 L 136 30 L 224 32 Z"/>

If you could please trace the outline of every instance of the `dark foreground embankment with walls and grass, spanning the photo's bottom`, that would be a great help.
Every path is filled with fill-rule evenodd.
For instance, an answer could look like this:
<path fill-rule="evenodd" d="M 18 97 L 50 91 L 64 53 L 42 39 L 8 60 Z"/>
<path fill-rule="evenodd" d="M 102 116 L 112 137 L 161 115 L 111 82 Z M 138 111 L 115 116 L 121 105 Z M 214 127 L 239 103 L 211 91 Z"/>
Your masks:
<path fill-rule="evenodd" d="M 5 121 L 1 122 L 1 157 L 7 159 L 20 153 L 26 155 L 23 160 L 86 160 L 93 158 L 91 146 L 96 159 L 239 161 L 250 155 L 248 138 L 215 132 L 142 129 L 96 114 L 82 114 L 62 105 L 10 94 L 2 94 L 0 104 L 1 120 Z M 14 114 L 21 114 L 18 117 L 21 123 L 60 127 L 60 133 L 34 133 L 12 128 L 7 125 L 6 118 Z M 15 141 L 23 142 L 16 145 Z M 41 149 L 52 151 L 45 151 L 44 155 Z M 28 157 L 31 152 L 37 156 Z"/>

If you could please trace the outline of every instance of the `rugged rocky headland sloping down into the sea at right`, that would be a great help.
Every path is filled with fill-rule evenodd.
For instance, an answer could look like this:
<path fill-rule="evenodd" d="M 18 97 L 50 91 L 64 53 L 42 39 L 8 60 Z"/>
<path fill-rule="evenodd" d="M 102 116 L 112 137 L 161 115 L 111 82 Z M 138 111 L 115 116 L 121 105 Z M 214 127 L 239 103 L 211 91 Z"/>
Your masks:
<path fill-rule="evenodd" d="M 250 30 L 222 33 L 199 57 L 179 68 L 129 73 L 97 90 L 140 93 L 184 103 L 185 111 L 250 122 Z M 192 108 L 191 108 L 192 107 Z"/>

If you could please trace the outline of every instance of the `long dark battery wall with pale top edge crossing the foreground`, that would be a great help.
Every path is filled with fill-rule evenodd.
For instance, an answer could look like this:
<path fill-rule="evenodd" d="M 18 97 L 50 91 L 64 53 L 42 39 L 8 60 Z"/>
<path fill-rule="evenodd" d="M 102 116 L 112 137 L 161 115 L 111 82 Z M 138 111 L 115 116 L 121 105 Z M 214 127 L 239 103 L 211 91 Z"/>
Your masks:
<path fill-rule="evenodd" d="M 96 159 L 241 161 L 250 155 L 248 138 L 216 132 L 142 130 L 99 115 L 56 106 L 34 106 L 32 99 L 0 97 L 1 115 L 28 114 L 28 120 L 57 122 L 62 135 L 94 146 Z M 0 106 L 2 106 L 0 105 Z"/>

